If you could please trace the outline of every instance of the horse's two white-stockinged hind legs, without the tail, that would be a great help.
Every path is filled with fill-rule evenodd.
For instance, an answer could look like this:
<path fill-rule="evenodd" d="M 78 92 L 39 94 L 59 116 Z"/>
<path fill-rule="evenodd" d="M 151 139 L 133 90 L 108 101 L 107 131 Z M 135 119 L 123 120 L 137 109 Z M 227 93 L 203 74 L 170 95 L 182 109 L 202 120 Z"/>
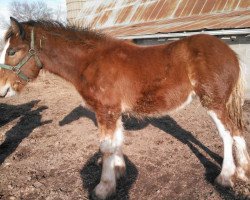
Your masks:
<path fill-rule="evenodd" d="M 224 143 L 224 160 L 222 171 L 216 182 L 223 186 L 233 186 L 233 177 L 248 182 L 250 179 L 250 157 L 241 128 L 234 123 L 228 110 L 210 110 L 208 114 L 215 122 Z M 233 144 L 235 144 L 236 164 L 233 159 Z"/>

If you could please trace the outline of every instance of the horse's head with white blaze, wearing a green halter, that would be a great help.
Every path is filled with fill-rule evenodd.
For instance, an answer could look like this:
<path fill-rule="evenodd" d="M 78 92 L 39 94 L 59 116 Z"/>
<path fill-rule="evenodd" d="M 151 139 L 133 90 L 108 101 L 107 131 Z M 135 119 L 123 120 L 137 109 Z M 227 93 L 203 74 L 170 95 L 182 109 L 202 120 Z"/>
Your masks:
<path fill-rule="evenodd" d="M 34 28 L 27 37 L 23 26 L 13 17 L 6 35 L 6 45 L 0 63 L 0 96 L 13 96 L 27 82 L 36 78 L 43 64 L 35 47 Z M 30 41 L 29 41 L 30 38 Z M 32 58 L 34 61 L 31 61 Z M 33 68 L 35 64 L 37 69 Z"/>

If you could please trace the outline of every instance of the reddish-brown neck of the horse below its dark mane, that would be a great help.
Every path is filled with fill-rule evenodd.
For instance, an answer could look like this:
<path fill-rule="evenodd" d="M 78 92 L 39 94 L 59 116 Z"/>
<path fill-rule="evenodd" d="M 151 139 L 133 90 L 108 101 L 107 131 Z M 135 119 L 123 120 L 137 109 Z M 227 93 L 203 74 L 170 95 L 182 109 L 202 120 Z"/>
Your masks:
<path fill-rule="evenodd" d="M 42 50 L 39 56 L 44 69 L 75 86 L 83 80 L 84 70 L 95 61 L 102 50 L 101 40 L 73 41 L 52 34 L 43 37 L 46 39 L 41 41 Z"/>

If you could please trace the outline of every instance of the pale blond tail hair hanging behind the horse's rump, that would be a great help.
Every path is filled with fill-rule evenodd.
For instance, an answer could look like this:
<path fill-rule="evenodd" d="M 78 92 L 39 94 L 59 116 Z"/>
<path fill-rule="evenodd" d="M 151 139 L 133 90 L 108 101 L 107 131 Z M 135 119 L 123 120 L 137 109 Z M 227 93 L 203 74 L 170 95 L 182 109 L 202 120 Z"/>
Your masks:
<path fill-rule="evenodd" d="M 240 130 L 244 130 L 245 128 L 242 113 L 242 106 L 245 100 L 244 69 L 244 63 L 240 62 L 239 77 L 227 102 L 227 111 L 229 113 L 229 117 Z"/>

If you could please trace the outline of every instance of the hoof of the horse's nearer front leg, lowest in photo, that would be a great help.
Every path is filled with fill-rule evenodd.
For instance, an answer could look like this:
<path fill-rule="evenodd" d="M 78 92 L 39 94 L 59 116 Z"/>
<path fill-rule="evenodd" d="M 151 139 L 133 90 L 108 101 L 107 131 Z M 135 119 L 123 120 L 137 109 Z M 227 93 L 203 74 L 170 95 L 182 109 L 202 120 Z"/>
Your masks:
<path fill-rule="evenodd" d="M 115 185 L 99 183 L 92 192 L 91 198 L 93 200 L 104 200 L 114 194 L 115 189 Z"/>

